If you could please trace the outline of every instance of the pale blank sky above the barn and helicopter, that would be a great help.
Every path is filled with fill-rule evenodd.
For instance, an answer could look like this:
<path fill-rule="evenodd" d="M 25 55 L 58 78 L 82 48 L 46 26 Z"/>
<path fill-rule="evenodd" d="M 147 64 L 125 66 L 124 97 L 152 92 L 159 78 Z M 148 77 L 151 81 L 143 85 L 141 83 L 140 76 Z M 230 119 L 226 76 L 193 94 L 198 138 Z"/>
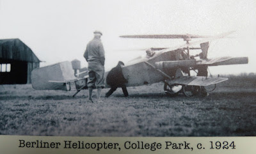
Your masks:
<path fill-rule="evenodd" d="M 212 74 L 256 72 L 256 1 L 0 0 L 0 39 L 19 38 L 44 61 L 40 66 L 83 58 L 93 31 L 102 31 L 106 70 L 150 47 L 183 40 L 125 39 L 120 35 L 193 34 L 232 36 L 212 41 L 209 58 L 248 56 L 248 65 L 212 66 Z"/>

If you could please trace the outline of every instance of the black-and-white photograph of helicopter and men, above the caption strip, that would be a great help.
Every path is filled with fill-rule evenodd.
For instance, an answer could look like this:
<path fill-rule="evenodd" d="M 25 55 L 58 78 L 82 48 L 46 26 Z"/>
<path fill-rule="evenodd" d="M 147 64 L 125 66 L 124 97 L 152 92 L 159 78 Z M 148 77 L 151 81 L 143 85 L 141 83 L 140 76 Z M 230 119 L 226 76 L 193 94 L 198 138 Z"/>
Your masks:
<path fill-rule="evenodd" d="M 0 135 L 256 135 L 256 1 L 0 0 Z"/>

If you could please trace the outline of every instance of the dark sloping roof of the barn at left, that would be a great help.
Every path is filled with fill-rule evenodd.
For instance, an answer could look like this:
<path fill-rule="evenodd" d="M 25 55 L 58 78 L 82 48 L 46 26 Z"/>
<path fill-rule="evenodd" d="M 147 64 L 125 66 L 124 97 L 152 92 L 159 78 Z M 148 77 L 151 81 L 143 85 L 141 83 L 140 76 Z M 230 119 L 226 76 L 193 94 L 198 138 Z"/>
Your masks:
<path fill-rule="evenodd" d="M 0 58 L 40 62 L 33 51 L 19 38 L 0 40 Z"/>

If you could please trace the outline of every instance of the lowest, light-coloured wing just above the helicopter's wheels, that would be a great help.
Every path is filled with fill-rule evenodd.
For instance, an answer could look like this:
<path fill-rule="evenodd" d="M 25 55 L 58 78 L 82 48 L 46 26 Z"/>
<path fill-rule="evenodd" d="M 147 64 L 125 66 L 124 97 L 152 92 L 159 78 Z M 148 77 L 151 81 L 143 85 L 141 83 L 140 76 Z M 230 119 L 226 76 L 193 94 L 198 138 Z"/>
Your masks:
<path fill-rule="evenodd" d="M 212 84 L 218 84 L 223 81 L 227 81 L 225 77 L 179 77 L 168 82 L 169 84 L 182 84 L 188 86 L 210 86 Z"/>

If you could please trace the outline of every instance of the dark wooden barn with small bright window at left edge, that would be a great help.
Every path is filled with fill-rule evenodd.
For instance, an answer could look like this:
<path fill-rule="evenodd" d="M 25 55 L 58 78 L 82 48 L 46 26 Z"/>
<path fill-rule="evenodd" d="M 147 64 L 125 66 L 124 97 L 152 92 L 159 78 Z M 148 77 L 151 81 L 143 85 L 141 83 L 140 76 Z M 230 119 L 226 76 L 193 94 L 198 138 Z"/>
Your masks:
<path fill-rule="evenodd" d="M 0 40 L 0 84 L 30 84 L 40 60 L 19 38 Z"/>

